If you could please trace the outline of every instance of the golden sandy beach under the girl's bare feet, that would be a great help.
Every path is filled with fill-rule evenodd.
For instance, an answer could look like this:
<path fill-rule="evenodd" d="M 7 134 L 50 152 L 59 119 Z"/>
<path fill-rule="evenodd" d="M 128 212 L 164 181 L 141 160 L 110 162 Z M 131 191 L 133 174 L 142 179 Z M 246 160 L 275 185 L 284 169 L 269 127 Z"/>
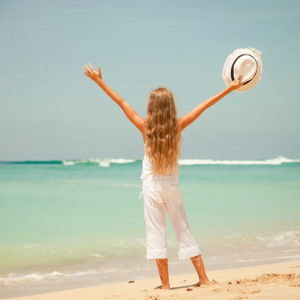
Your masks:
<path fill-rule="evenodd" d="M 170 290 L 155 288 L 159 277 L 63 290 L 10 300 L 300 299 L 300 260 L 207 272 L 211 284 L 194 286 L 196 275 L 170 276 Z"/>

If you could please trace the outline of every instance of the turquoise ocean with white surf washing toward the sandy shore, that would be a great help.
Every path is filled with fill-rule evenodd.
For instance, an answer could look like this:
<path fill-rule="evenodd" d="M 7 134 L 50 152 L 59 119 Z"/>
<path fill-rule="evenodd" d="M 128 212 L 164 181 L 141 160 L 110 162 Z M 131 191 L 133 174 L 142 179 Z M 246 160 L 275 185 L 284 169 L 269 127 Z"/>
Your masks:
<path fill-rule="evenodd" d="M 0 298 L 157 276 L 145 259 L 141 160 L 0 163 Z M 180 161 L 207 270 L 300 259 L 300 160 Z M 167 219 L 170 274 L 179 261 Z M 195 282 L 196 282 L 195 275 Z"/>

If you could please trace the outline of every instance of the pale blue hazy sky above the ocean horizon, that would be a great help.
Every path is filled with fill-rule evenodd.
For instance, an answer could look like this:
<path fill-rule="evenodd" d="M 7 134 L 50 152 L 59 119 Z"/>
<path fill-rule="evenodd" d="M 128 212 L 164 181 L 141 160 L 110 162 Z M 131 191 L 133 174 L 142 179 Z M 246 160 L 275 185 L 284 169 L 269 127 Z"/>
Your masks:
<path fill-rule="evenodd" d="M 299 158 L 299 29 L 299 0 L 1 1 L 0 160 L 141 158 L 140 133 L 83 64 L 142 116 L 149 90 L 170 87 L 180 116 L 249 46 L 260 82 L 190 125 L 182 158 Z"/>

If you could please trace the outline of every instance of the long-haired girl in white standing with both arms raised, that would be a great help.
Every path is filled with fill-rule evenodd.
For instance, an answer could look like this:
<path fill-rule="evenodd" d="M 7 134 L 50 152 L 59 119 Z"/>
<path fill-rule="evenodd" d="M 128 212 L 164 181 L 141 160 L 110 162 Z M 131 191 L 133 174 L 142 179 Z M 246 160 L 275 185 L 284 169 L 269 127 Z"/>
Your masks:
<path fill-rule="evenodd" d="M 96 82 L 116 102 L 141 132 L 144 141 L 142 194 L 146 222 L 147 259 L 156 259 L 161 288 L 169 289 L 165 212 L 168 213 L 178 242 L 179 259 L 190 258 L 199 277 L 198 284 L 209 284 L 199 247 L 192 237 L 178 188 L 178 164 L 181 131 L 206 108 L 243 83 L 233 81 L 223 91 L 203 101 L 185 116 L 177 118 L 174 97 L 165 87 L 154 89 L 148 99 L 147 116 L 140 117 L 115 91 L 104 83 L 100 67 L 95 71 L 88 63 L 84 74 Z"/>

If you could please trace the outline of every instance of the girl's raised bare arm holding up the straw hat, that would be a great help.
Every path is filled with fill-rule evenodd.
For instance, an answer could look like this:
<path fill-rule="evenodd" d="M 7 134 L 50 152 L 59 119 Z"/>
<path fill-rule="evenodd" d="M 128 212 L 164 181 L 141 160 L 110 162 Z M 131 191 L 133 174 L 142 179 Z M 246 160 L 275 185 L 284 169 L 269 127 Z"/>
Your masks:
<path fill-rule="evenodd" d="M 239 77 L 237 80 L 232 81 L 224 90 L 215 94 L 211 98 L 203 101 L 201 104 L 199 104 L 194 109 L 192 109 L 190 112 L 188 112 L 186 115 L 180 117 L 178 119 L 178 122 L 179 122 L 179 126 L 181 128 L 181 131 L 184 128 L 186 128 L 189 124 L 191 124 L 193 121 L 195 121 L 205 109 L 207 109 L 211 105 L 215 104 L 217 101 L 219 101 L 225 95 L 230 93 L 232 90 L 238 89 L 243 84 L 243 82 L 240 82 L 240 80 L 241 80 L 241 77 Z"/>

